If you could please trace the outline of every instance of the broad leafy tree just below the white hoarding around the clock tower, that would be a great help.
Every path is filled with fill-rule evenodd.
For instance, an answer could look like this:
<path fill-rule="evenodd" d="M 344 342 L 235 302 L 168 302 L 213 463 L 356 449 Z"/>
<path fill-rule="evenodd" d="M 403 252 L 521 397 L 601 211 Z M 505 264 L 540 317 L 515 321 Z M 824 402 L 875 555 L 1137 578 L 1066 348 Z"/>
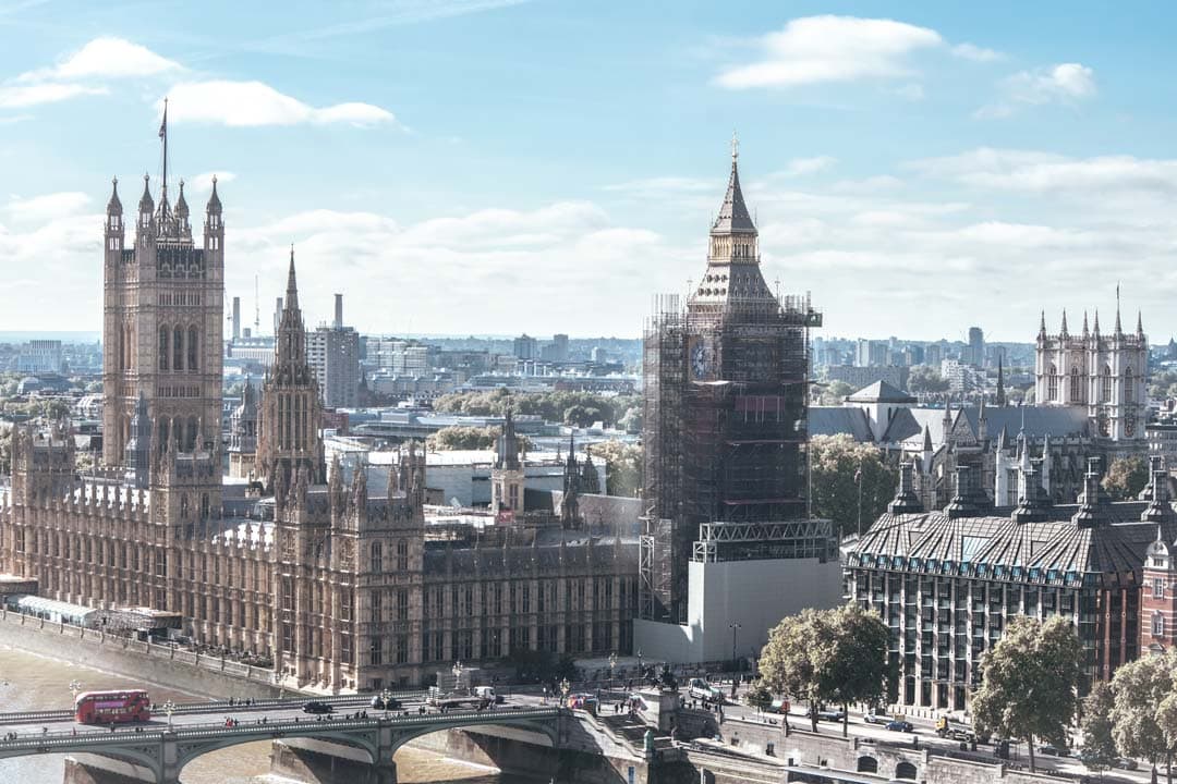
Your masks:
<path fill-rule="evenodd" d="M 875 702 L 886 692 L 889 631 L 858 604 L 802 610 L 770 632 L 760 651 L 760 679 L 771 690 L 805 701 L 817 732 L 822 703 Z M 843 735 L 847 733 L 843 717 Z"/>

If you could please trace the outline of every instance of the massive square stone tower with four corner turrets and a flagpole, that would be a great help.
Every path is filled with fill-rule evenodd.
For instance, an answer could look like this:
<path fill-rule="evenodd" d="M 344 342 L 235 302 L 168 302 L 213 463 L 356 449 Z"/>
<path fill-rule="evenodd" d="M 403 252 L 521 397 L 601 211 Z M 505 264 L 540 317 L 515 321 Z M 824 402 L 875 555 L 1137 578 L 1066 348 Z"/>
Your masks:
<path fill-rule="evenodd" d="M 127 456 L 140 394 L 158 451 L 219 451 L 225 321 L 225 227 L 213 179 L 204 242 L 193 242 L 180 182 L 174 210 L 165 183 L 157 209 L 148 177 L 126 247 L 118 181 L 106 207 L 102 263 L 102 460 Z"/>

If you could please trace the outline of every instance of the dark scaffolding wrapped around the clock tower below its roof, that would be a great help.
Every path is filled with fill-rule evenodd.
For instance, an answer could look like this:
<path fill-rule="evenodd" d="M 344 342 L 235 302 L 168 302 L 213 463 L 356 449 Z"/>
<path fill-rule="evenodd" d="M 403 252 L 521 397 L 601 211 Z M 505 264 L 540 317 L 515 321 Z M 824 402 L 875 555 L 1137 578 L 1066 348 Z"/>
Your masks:
<path fill-rule="evenodd" d="M 646 322 L 639 557 L 646 618 L 685 622 L 687 564 L 704 525 L 806 517 L 809 331 L 822 315 L 809 294 L 774 296 L 758 267 L 738 272 L 731 293 L 724 275 L 722 299 L 705 284 L 685 308 L 678 296 L 656 297 Z M 758 551 L 811 549 L 779 543 Z"/>

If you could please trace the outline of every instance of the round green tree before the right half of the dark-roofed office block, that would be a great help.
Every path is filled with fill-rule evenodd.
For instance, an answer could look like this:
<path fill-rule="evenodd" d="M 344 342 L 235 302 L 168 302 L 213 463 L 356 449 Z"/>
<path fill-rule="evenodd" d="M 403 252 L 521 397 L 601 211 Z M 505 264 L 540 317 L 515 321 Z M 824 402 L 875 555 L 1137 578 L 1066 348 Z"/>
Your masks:
<path fill-rule="evenodd" d="M 1035 738 L 1066 745 L 1082 654 L 1066 618 L 1015 616 L 982 659 L 984 679 L 972 698 L 976 722 L 993 733 L 1025 741 L 1031 772 Z"/>

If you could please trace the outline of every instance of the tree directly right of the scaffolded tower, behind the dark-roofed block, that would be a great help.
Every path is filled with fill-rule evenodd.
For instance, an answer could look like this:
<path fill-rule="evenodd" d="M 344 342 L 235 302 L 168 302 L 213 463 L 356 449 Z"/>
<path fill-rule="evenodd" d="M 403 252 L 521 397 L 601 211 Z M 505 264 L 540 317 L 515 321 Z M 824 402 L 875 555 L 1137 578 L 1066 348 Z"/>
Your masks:
<path fill-rule="evenodd" d="M 832 520 L 839 538 L 857 531 L 862 482 L 862 525 L 869 528 L 895 496 L 899 471 L 883 462 L 877 447 L 846 434 L 813 436 L 809 450 L 813 514 Z"/>

